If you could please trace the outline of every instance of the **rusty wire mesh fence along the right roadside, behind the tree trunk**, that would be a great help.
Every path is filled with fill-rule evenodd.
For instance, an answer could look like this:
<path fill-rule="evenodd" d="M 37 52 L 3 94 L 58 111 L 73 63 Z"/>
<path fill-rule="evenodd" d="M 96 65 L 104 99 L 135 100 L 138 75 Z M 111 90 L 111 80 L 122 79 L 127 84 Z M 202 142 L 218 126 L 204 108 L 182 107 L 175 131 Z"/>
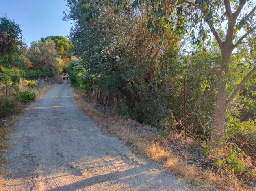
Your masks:
<path fill-rule="evenodd" d="M 140 89 L 141 100 L 135 104 L 134 113 L 129 113 L 127 109 L 126 96 L 117 92 L 118 90 L 113 91 L 110 97 L 114 98 L 115 104 L 112 105 L 120 108 L 121 115 L 130 115 L 139 122 L 150 124 L 162 131 L 169 131 L 167 133 L 180 133 L 197 142 L 210 140 L 216 97 L 214 89 L 208 88 L 203 91 L 200 86 L 195 87 L 191 82 L 186 83 L 185 89 L 183 79 L 168 87 L 163 84 L 146 84 L 144 89 Z M 106 102 L 105 104 L 110 102 L 108 96 L 101 100 Z M 240 128 L 239 134 L 233 132 L 232 135 L 228 135 L 227 141 L 238 146 L 256 162 L 255 127 L 254 132 L 249 131 L 247 126 L 243 128 Z"/>

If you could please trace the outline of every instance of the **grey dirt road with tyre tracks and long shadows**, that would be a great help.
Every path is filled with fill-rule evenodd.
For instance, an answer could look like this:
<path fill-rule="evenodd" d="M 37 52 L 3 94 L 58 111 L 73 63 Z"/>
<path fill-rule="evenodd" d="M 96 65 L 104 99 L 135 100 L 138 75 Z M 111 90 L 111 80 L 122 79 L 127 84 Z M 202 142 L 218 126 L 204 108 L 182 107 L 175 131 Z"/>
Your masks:
<path fill-rule="evenodd" d="M 167 170 L 102 134 L 69 88 L 54 87 L 17 118 L 3 190 L 186 190 Z"/>

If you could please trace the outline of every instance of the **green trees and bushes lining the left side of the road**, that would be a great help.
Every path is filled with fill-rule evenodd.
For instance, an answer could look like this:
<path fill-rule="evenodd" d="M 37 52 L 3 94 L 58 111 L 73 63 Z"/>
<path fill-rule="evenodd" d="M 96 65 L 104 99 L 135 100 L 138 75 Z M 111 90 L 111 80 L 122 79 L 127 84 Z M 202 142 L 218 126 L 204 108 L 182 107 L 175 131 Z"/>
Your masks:
<path fill-rule="evenodd" d="M 27 47 L 19 24 L 0 18 L 0 167 L 7 162 L 1 155 L 9 147 L 15 116 L 62 82 L 59 75 L 67 70 L 70 47 L 72 42 L 63 36 L 42 38 Z"/>

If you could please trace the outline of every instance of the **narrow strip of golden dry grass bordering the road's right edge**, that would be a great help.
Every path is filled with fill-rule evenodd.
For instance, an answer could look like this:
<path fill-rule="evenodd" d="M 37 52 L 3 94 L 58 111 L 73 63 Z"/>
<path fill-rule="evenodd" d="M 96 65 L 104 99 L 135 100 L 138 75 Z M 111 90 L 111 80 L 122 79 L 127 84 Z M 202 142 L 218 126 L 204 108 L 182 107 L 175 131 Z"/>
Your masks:
<path fill-rule="evenodd" d="M 94 122 L 121 140 L 124 140 L 134 151 L 147 156 L 151 160 L 160 163 L 175 175 L 179 175 L 180 182 L 186 184 L 191 190 L 198 191 L 246 191 L 254 190 L 245 186 L 230 171 L 215 173 L 211 170 L 200 169 L 189 165 L 180 156 L 173 155 L 167 148 L 166 141 L 156 135 L 145 135 L 131 130 L 134 121 L 129 118 L 121 118 L 110 111 L 102 112 L 95 108 L 94 103 L 87 102 L 76 88 L 71 87 L 70 93 L 80 108 L 90 116 Z M 183 153 L 184 155 L 184 153 Z"/>

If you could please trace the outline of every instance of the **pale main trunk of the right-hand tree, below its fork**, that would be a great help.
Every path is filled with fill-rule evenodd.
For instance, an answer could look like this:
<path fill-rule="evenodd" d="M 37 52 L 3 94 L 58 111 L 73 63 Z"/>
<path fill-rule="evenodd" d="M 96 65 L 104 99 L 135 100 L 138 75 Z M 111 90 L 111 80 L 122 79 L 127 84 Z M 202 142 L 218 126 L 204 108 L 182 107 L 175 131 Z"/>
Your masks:
<path fill-rule="evenodd" d="M 221 69 L 218 73 L 218 93 L 216 96 L 213 127 L 211 130 L 211 144 L 213 145 L 221 144 L 224 135 L 226 111 L 228 108 L 228 102 L 226 99 L 226 82 L 229 76 L 229 62 L 231 53 L 232 49 L 224 49 L 222 51 Z"/>

